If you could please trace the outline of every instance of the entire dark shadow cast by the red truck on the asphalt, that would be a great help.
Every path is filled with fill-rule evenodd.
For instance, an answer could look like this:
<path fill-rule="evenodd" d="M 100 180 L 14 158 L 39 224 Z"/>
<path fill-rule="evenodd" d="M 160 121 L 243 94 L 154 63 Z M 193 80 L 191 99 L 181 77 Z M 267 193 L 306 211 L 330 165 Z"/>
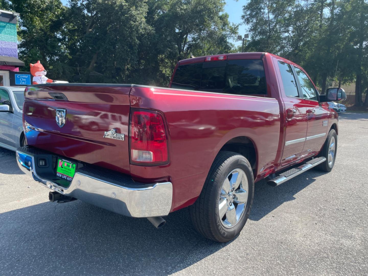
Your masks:
<path fill-rule="evenodd" d="M 321 174 L 311 171 L 276 188 L 257 183 L 250 219 L 293 200 Z M 186 208 L 170 214 L 161 229 L 82 201 L 0 213 L 0 275 L 169 275 L 227 244 L 199 236 Z"/>

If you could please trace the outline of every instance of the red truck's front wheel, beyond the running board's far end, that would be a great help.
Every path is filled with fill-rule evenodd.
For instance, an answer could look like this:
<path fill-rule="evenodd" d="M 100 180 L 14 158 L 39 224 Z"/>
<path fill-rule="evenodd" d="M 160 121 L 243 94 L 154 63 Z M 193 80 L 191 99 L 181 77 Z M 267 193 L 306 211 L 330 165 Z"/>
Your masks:
<path fill-rule="evenodd" d="M 330 130 L 327 135 L 325 144 L 319 156 L 325 157 L 326 161 L 319 164 L 317 168 L 321 171 L 330 172 L 335 164 L 337 150 L 337 135 L 335 130 Z"/>

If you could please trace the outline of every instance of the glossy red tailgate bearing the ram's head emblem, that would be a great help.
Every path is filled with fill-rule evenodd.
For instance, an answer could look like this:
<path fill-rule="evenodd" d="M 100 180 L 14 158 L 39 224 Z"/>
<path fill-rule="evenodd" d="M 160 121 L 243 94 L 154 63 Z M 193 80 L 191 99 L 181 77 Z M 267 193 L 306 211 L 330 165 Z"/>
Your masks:
<path fill-rule="evenodd" d="M 28 145 L 129 173 L 130 89 L 110 84 L 28 86 L 23 109 Z M 64 125 L 57 123 L 57 109 L 65 110 Z M 125 134 L 125 141 L 103 138 L 112 129 Z"/>

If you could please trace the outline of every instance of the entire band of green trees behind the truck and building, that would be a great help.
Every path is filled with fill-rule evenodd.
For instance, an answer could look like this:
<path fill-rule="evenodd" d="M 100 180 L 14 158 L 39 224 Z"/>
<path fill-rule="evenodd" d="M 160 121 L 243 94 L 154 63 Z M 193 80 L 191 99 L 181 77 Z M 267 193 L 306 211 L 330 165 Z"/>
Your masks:
<path fill-rule="evenodd" d="M 228 0 L 233 1 L 233 0 Z M 0 0 L 21 14 L 19 55 L 52 79 L 166 86 L 178 60 L 240 52 L 224 0 Z M 249 0 L 247 52 L 271 52 L 307 70 L 325 91 L 368 91 L 366 0 Z M 337 66 L 338 64 L 338 66 Z M 28 68 L 24 68 L 27 70 Z M 366 100 L 368 105 L 368 100 Z"/>

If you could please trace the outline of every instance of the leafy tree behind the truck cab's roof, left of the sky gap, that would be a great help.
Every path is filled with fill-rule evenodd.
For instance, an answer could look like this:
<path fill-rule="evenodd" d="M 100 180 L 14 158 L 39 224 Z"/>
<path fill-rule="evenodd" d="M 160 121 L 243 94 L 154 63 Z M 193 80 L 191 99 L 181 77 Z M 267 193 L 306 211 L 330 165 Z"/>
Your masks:
<path fill-rule="evenodd" d="M 152 47 L 147 51 L 145 44 L 141 44 L 145 48 L 141 63 L 159 67 L 161 78 L 155 83 L 167 85 L 177 61 L 190 57 L 191 53 L 204 56 L 231 51 L 233 45 L 229 39 L 237 35 L 238 26 L 230 24 L 228 15 L 222 14 L 223 0 L 149 0 L 147 3 L 146 22 L 152 33 L 145 41 Z M 152 67 L 145 68 L 153 77 Z"/>

